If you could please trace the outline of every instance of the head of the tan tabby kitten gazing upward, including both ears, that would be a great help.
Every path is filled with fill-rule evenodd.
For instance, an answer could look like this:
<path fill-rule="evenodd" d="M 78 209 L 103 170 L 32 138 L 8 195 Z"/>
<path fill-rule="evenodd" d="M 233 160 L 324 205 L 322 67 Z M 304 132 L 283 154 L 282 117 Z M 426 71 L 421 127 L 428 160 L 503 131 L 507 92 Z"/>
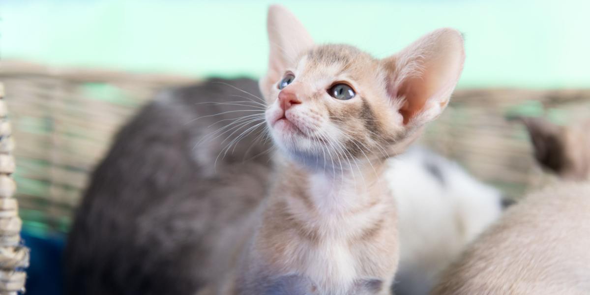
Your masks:
<path fill-rule="evenodd" d="M 260 80 L 278 147 L 314 165 L 385 157 L 447 106 L 463 70 L 463 38 L 425 35 L 382 60 L 349 45 L 314 45 L 281 6 L 268 11 L 270 58 Z"/>

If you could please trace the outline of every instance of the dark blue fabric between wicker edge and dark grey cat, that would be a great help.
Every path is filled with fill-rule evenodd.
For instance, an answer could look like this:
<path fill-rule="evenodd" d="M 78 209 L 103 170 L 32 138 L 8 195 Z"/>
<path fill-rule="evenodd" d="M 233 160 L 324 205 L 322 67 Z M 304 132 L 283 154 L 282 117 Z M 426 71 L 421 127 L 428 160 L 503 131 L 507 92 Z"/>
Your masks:
<path fill-rule="evenodd" d="M 27 295 L 63 294 L 63 235 L 42 237 L 23 230 L 24 244 L 31 248 L 31 265 L 27 269 Z"/>

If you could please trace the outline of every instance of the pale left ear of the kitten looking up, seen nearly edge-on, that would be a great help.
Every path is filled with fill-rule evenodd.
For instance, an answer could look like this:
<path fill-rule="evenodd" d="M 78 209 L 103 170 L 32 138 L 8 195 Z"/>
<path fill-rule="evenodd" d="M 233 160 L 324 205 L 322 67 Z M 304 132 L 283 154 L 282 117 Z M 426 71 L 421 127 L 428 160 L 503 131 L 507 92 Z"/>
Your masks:
<path fill-rule="evenodd" d="M 260 89 L 265 97 L 268 97 L 270 87 L 283 76 L 285 69 L 294 63 L 302 51 L 313 45 L 312 37 L 301 22 L 280 5 L 268 8 L 267 30 L 270 42 L 268 72 L 260 80 Z"/>

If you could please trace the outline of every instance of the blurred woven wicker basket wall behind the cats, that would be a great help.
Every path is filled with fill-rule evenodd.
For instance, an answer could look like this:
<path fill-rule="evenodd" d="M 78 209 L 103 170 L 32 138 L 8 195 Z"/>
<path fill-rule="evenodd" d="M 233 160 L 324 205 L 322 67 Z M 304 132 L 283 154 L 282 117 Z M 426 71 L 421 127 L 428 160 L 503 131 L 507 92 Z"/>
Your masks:
<path fill-rule="evenodd" d="M 19 142 L 21 216 L 28 225 L 58 231 L 67 231 L 89 172 L 121 124 L 156 90 L 195 81 L 15 61 L 3 62 L 0 80 Z M 565 123 L 590 114 L 590 90 L 458 90 L 451 101 L 422 142 L 513 197 L 545 175 L 533 163 L 525 130 L 506 115 L 547 113 Z"/>

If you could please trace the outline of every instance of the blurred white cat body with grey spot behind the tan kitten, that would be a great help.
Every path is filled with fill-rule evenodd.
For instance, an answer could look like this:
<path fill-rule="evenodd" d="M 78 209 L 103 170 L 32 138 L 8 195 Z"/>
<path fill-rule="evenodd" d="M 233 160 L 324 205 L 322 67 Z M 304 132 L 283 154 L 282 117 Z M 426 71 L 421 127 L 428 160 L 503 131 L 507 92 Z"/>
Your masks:
<path fill-rule="evenodd" d="M 412 148 L 388 162 L 385 176 L 399 220 L 394 291 L 428 294 L 440 271 L 500 217 L 503 200 L 497 189 L 424 148 Z"/>

